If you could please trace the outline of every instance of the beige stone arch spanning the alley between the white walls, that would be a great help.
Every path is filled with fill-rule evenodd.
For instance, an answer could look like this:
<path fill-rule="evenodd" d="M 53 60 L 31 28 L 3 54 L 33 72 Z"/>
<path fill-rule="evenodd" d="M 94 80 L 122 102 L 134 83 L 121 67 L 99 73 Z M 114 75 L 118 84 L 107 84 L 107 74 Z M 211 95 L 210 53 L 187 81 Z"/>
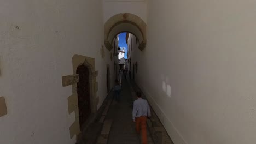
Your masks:
<path fill-rule="evenodd" d="M 139 49 L 142 51 L 147 44 L 147 25 L 138 16 L 130 13 L 112 16 L 104 25 L 105 47 L 112 50 L 112 41 L 115 35 L 121 32 L 129 32 L 136 35 L 139 41 Z"/>

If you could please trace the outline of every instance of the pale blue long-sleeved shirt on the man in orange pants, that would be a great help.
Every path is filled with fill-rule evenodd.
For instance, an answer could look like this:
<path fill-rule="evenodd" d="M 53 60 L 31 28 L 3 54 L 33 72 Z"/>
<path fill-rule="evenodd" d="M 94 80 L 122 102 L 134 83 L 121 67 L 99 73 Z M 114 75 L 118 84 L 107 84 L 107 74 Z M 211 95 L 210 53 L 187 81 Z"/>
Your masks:
<path fill-rule="evenodd" d="M 135 120 L 136 117 L 150 117 L 150 107 L 148 105 L 148 101 L 142 98 L 138 98 L 133 102 L 133 110 L 132 110 L 132 119 Z"/>

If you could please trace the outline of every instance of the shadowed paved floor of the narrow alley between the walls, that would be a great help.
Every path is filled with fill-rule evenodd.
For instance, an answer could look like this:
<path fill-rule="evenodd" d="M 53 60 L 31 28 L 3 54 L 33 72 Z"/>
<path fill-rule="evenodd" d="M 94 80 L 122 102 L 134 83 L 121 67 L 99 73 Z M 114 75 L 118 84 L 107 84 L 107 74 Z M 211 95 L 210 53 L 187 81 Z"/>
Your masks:
<path fill-rule="evenodd" d="M 99 111 L 98 113 L 98 115 L 101 115 L 101 118 L 95 119 L 95 122 L 91 127 L 82 133 L 82 139 L 78 144 L 141 143 L 141 136 L 136 134 L 135 123 L 132 121 L 133 101 L 137 99 L 135 91 L 139 91 L 139 88 L 132 79 L 125 79 L 124 76 L 123 79 L 120 79 L 120 82 L 122 85 L 120 101 L 116 101 L 113 98 L 113 92 L 109 93 L 108 98 L 105 101 L 107 105 L 103 105 L 102 107 L 104 110 Z M 146 98 L 143 97 L 143 99 Z M 154 113 L 153 110 L 152 113 Z M 103 124 L 101 125 L 100 123 Z M 172 144 L 170 137 L 155 113 L 148 119 L 147 123 L 148 144 Z"/>

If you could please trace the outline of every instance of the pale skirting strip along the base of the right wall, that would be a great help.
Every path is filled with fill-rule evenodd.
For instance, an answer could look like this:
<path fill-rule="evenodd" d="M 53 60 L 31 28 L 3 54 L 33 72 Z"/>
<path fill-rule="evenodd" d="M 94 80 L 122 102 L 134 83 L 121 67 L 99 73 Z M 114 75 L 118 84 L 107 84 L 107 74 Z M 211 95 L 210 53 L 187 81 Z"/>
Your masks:
<path fill-rule="evenodd" d="M 137 83 L 137 82 L 136 82 Z M 144 95 L 147 97 L 149 104 L 154 109 L 156 115 L 159 117 L 162 125 L 164 125 L 168 135 L 171 137 L 174 144 L 188 144 L 183 139 L 182 135 L 179 134 L 178 130 L 174 127 L 170 119 L 168 119 L 165 115 L 165 113 L 161 110 L 161 107 L 155 102 L 155 100 L 152 98 L 152 96 L 145 91 L 146 88 L 141 85 L 141 83 L 137 83 L 139 88 L 141 88 L 141 91 L 144 93 Z"/>

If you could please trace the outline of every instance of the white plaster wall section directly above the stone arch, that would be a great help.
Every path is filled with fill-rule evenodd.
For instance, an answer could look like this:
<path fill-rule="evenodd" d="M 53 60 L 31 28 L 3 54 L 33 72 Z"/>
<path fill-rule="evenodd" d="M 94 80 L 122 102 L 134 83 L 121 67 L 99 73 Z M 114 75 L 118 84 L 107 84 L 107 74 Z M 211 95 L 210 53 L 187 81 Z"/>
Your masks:
<path fill-rule="evenodd" d="M 135 14 L 147 23 L 147 0 L 102 0 L 104 23 L 120 13 Z"/>

